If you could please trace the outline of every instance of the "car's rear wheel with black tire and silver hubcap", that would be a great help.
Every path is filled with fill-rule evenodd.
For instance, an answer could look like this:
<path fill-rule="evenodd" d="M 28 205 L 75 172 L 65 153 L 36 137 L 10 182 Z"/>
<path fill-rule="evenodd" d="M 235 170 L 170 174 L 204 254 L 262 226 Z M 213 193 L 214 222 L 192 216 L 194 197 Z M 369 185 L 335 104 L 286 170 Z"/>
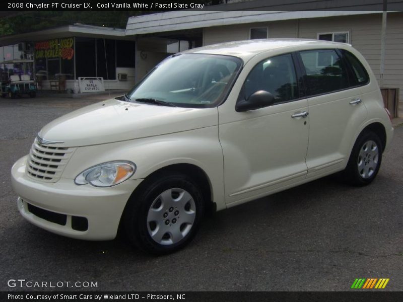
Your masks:
<path fill-rule="evenodd" d="M 374 156 L 374 148 L 377 149 L 377 156 Z M 347 167 L 342 172 L 342 180 L 354 186 L 370 184 L 378 174 L 382 153 L 382 142 L 379 136 L 369 130 L 362 132 L 353 146 Z"/>

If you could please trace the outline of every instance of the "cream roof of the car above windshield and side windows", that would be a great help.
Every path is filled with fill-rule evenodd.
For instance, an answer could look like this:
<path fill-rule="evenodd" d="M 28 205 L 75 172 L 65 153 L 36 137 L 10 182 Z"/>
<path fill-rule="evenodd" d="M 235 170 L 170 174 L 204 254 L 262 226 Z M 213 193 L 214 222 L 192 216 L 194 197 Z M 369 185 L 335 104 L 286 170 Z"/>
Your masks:
<path fill-rule="evenodd" d="M 279 48 L 289 48 L 290 51 L 295 51 L 299 49 L 299 46 L 303 45 L 311 45 L 318 48 L 337 48 L 341 45 L 349 44 L 310 39 L 257 39 L 213 44 L 198 48 L 192 48 L 181 53 L 232 55 L 239 57 L 246 62 L 253 56 L 262 52 Z"/>

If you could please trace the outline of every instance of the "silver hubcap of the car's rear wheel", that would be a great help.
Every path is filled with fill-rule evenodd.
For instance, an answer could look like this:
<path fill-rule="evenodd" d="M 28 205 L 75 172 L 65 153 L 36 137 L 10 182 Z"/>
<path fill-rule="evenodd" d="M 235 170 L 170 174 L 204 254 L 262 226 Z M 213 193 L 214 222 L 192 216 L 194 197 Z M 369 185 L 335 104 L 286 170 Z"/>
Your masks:
<path fill-rule="evenodd" d="M 370 178 L 378 166 L 379 149 L 373 140 L 366 141 L 358 155 L 358 173 L 362 178 Z"/>

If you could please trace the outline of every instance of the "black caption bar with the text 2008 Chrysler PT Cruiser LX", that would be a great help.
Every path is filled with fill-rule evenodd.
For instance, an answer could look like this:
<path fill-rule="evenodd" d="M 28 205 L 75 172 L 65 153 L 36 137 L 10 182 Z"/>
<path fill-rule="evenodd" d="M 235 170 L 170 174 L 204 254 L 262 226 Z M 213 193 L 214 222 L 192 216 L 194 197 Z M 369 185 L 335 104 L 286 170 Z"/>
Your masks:
<path fill-rule="evenodd" d="M 382 11 L 383 0 L 6 0 L 2 12 L 23 11 Z M 218 5 L 217 5 L 218 4 Z M 403 11 L 402 0 L 387 0 L 388 11 Z M 5 14 L 1 14 L 5 16 Z"/>

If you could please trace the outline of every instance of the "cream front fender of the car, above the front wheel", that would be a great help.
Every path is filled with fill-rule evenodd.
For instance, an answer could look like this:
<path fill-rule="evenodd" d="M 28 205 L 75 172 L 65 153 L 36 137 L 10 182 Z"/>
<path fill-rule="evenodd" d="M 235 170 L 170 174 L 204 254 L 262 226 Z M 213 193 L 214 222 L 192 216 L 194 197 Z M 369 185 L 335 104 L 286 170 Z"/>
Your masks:
<path fill-rule="evenodd" d="M 74 179 L 89 167 L 116 160 L 136 164 L 136 173 L 132 179 L 147 178 L 151 173 L 170 165 L 195 165 L 203 170 L 209 179 L 217 210 L 226 207 L 223 153 L 217 126 L 78 147 L 62 177 Z"/>

